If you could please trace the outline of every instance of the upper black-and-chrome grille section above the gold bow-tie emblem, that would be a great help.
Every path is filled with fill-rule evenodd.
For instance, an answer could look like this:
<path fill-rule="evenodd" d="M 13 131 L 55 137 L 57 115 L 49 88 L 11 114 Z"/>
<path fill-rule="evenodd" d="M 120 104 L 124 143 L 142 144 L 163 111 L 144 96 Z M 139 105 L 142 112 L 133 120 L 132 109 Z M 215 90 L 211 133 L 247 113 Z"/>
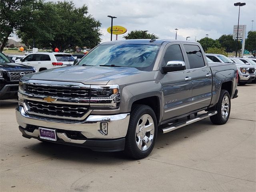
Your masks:
<path fill-rule="evenodd" d="M 41 86 L 25 84 L 24 91 L 28 94 L 54 96 L 59 98 L 89 98 L 89 88 L 72 88 L 68 86 Z"/>

